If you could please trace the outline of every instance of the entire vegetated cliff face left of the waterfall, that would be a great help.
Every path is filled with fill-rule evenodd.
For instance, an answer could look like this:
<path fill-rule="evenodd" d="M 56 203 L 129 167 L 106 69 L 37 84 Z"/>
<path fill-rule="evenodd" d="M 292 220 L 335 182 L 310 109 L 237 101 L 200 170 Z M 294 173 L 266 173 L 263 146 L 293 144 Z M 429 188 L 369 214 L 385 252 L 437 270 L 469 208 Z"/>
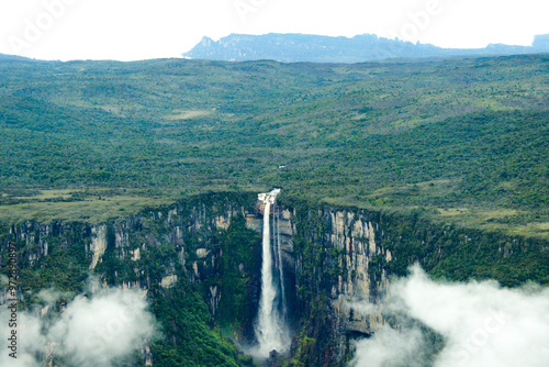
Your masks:
<path fill-rule="evenodd" d="M 244 220 L 255 215 L 253 197 L 204 196 L 99 224 L 29 221 L 2 229 L 0 259 L 5 259 L 8 242 L 16 243 L 19 298 L 29 311 L 41 289 L 86 292 L 89 273 L 103 287 L 147 293 L 165 336 L 143 347 L 147 365 L 169 364 L 173 353 L 190 355 L 183 358 L 189 366 L 200 365 L 211 358 L 209 348 L 220 351 L 220 362 L 249 365 L 219 334 L 231 331 L 239 340 L 253 321 L 260 236 Z M 63 312 L 66 302 L 58 300 L 40 316 Z M 63 366 L 55 357 L 51 362 Z"/>

